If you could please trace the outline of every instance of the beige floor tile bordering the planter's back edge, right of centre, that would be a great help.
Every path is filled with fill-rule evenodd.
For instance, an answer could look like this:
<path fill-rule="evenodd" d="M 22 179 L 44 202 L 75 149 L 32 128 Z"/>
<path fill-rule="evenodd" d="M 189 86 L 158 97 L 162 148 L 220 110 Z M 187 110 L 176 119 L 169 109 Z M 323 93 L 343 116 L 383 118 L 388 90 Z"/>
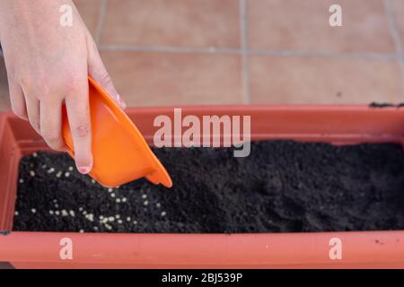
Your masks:
<path fill-rule="evenodd" d="M 252 103 L 398 102 L 399 65 L 354 58 L 250 57 Z"/>

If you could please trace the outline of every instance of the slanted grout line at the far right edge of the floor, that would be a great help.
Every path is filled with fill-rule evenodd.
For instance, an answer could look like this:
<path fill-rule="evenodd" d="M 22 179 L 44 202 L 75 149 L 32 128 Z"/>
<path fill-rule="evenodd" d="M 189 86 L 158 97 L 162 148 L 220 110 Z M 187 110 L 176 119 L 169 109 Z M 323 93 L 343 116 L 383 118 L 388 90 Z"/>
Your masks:
<path fill-rule="evenodd" d="M 400 37 L 400 30 L 398 27 L 397 23 L 397 18 L 394 13 L 394 7 L 393 4 L 391 3 L 391 0 L 384 0 L 384 10 L 387 14 L 387 19 L 389 22 L 389 28 L 391 32 L 391 37 L 394 42 L 394 46 L 396 48 L 396 57 L 399 61 L 400 65 L 400 72 L 401 72 L 401 82 L 404 80 L 404 62 L 403 62 L 403 50 L 402 50 L 402 42 L 401 42 L 401 37 Z M 400 94 L 401 97 L 404 96 L 404 91 L 402 84 L 400 85 Z"/>

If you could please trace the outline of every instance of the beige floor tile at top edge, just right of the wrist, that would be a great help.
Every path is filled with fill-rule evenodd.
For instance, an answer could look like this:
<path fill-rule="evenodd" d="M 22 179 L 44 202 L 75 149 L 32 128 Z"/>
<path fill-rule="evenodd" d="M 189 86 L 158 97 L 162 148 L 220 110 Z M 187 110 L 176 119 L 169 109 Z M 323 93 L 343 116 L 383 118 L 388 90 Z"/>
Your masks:
<path fill-rule="evenodd" d="M 239 47 L 236 0 L 113 0 L 101 44 Z"/>

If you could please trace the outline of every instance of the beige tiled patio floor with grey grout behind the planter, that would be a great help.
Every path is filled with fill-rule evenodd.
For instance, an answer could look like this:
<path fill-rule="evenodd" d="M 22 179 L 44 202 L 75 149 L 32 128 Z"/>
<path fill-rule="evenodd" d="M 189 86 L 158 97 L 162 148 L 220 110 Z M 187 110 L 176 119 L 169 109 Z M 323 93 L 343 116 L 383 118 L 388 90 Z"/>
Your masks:
<path fill-rule="evenodd" d="M 404 101 L 404 0 L 75 4 L 130 106 Z"/>

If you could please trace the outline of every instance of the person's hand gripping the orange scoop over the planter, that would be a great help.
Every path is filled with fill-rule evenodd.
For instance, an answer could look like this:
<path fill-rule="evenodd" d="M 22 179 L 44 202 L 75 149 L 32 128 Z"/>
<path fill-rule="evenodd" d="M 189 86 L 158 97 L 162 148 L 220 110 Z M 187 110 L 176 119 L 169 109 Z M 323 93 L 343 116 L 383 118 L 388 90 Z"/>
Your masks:
<path fill-rule="evenodd" d="M 73 25 L 60 24 L 60 7 L 73 7 Z M 0 40 L 13 112 L 30 121 L 49 147 L 66 151 L 62 104 L 75 146 L 77 170 L 92 169 L 88 79 L 125 109 L 92 36 L 70 0 L 0 0 Z"/>

